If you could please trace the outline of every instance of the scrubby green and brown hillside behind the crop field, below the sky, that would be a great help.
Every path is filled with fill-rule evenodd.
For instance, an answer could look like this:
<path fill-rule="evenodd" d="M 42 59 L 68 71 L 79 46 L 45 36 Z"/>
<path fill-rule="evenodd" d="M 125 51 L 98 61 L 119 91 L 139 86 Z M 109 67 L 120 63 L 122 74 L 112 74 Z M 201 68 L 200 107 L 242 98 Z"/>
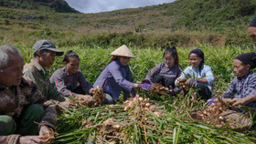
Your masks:
<path fill-rule="evenodd" d="M 253 0 L 177 0 L 97 14 L 60 13 L 75 12 L 60 0 L 0 4 L 0 39 L 28 46 L 42 38 L 59 46 L 250 46 L 246 31 L 256 14 Z"/>

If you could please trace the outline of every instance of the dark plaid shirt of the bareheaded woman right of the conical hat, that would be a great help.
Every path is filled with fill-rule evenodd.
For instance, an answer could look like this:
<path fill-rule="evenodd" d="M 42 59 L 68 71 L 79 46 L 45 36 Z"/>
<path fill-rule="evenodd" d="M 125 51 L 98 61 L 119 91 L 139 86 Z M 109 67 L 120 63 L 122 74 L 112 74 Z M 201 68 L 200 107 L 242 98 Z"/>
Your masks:
<path fill-rule="evenodd" d="M 180 66 L 167 67 L 165 62 L 162 62 L 152 68 L 145 79 L 152 79 L 155 75 L 161 75 L 164 78 L 177 78 L 181 74 Z"/>

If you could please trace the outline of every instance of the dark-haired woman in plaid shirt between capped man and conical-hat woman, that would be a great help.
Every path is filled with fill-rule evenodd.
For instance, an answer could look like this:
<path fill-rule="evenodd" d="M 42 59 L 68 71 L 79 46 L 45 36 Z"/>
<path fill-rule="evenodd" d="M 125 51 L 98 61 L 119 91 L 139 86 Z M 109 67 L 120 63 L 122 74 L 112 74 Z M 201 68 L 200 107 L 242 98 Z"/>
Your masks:
<path fill-rule="evenodd" d="M 63 59 L 64 67 L 57 69 L 50 77 L 50 82 L 56 86 L 63 95 L 70 97 L 72 94 L 76 98 L 82 98 L 91 104 L 91 84 L 83 77 L 79 69 L 80 57 L 77 53 L 69 50 Z M 80 86 L 77 87 L 78 83 Z M 89 95 L 86 95 L 89 94 Z"/>

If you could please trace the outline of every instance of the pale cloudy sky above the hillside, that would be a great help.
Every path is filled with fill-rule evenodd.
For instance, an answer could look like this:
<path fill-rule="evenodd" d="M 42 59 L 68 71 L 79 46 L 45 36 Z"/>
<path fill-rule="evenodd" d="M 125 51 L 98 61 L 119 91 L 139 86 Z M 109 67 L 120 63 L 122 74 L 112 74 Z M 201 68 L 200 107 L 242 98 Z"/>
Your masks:
<path fill-rule="evenodd" d="M 81 13 L 100 13 L 123 8 L 159 5 L 174 1 L 175 0 L 66 0 L 71 7 Z"/>

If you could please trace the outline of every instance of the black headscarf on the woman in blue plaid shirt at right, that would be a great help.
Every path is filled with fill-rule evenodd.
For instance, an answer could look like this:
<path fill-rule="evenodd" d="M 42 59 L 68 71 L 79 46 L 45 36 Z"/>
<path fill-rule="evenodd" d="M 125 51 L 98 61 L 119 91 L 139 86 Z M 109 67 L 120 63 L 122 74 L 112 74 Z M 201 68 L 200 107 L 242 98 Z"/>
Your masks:
<path fill-rule="evenodd" d="M 256 67 L 256 53 L 254 52 L 240 54 L 240 56 L 235 59 L 240 60 L 245 65 L 251 65 L 251 69 Z"/>

